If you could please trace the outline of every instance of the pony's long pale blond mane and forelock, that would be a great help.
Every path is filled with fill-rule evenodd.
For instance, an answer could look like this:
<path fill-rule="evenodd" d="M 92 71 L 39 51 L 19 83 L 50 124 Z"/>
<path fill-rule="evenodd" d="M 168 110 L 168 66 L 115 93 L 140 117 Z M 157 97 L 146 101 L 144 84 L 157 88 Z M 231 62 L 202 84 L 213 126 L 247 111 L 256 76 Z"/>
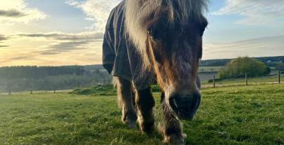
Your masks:
<path fill-rule="evenodd" d="M 190 18 L 202 18 L 207 3 L 208 0 L 125 0 L 125 29 L 138 52 L 146 58 L 146 22 L 150 17 L 166 9 L 169 22 L 185 25 Z M 144 62 L 146 67 L 147 63 Z"/>

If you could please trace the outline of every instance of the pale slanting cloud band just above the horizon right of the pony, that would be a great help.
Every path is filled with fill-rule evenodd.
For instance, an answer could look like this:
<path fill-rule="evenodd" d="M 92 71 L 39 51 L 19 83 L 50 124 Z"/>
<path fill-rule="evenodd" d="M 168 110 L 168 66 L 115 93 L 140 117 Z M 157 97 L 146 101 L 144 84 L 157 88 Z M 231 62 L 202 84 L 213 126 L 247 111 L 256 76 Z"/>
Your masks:
<path fill-rule="evenodd" d="M 284 36 L 270 36 L 231 43 L 205 43 L 203 59 L 284 55 L 284 53 L 281 53 L 284 46 L 283 40 Z"/>

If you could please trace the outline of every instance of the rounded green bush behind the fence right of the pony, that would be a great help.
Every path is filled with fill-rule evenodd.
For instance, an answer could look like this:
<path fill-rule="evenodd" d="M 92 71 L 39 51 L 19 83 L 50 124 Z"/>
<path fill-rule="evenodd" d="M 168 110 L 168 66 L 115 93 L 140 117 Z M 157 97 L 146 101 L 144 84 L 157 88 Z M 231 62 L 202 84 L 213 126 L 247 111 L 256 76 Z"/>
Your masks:
<path fill-rule="evenodd" d="M 238 57 L 226 64 L 219 72 L 220 79 L 243 78 L 245 73 L 248 77 L 257 77 L 270 74 L 271 69 L 264 62 L 249 57 Z"/>

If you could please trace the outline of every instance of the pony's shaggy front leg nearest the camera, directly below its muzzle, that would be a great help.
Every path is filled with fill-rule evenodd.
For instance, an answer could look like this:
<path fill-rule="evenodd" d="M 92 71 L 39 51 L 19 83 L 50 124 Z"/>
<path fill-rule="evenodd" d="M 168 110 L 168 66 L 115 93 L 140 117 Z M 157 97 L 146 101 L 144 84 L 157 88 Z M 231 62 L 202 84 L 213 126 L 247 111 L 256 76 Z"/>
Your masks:
<path fill-rule="evenodd" d="M 185 144 L 184 139 L 186 138 L 186 134 L 182 132 L 181 121 L 176 118 L 171 107 L 164 99 L 164 93 L 162 93 L 160 109 L 162 110 L 159 113 L 162 116 L 159 117 L 162 120 L 158 124 L 158 129 L 164 136 L 164 142 L 173 145 Z"/>

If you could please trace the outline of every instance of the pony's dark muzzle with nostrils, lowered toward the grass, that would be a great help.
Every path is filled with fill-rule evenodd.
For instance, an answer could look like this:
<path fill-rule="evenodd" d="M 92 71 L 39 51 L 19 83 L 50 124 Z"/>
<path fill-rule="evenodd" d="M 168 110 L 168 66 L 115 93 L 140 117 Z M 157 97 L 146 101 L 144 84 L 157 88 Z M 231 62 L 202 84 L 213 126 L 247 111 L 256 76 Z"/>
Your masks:
<path fill-rule="evenodd" d="M 173 95 L 169 97 L 169 105 L 181 119 L 192 120 L 200 106 L 199 92 L 192 95 Z"/>

